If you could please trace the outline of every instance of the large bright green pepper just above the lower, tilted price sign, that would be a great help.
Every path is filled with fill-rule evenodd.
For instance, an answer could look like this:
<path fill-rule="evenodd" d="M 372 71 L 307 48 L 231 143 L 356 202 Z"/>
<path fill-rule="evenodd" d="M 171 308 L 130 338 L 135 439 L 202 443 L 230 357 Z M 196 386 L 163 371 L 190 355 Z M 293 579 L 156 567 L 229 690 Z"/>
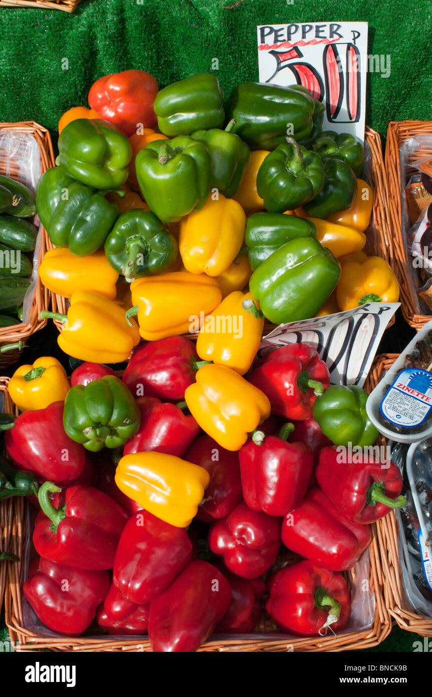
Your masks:
<path fill-rule="evenodd" d="M 309 319 L 339 280 L 335 256 L 312 236 L 290 240 L 255 269 L 249 289 L 275 324 Z"/>

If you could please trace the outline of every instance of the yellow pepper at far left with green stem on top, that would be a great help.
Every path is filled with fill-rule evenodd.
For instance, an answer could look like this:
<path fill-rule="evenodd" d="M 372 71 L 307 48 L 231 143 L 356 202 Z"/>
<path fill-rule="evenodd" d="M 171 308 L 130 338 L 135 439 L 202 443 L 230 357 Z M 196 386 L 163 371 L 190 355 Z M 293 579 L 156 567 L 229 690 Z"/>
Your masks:
<path fill-rule="evenodd" d="M 45 409 L 54 401 L 64 401 L 69 390 L 63 365 L 51 356 L 42 356 L 33 365 L 20 365 L 8 385 L 10 399 L 19 411 Z"/>

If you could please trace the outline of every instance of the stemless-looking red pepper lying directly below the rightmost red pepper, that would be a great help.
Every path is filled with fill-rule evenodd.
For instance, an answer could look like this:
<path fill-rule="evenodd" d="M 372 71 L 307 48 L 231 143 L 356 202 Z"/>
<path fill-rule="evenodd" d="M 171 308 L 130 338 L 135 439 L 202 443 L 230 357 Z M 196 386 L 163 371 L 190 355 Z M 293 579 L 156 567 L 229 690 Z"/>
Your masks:
<path fill-rule="evenodd" d="M 282 523 L 288 549 L 332 571 L 351 569 L 370 541 L 369 527 L 349 521 L 319 487 Z"/>

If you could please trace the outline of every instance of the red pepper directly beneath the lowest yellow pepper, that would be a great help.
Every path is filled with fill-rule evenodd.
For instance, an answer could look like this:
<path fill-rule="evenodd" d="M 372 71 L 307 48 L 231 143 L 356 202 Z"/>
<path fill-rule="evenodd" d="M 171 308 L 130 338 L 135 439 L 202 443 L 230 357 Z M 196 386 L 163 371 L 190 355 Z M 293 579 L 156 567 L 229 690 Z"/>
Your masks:
<path fill-rule="evenodd" d="M 131 517 L 118 543 L 113 581 L 131 602 L 144 604 L 161 593 L 192 554 L 185 528 L 175 528 L 141 510 Z"/>

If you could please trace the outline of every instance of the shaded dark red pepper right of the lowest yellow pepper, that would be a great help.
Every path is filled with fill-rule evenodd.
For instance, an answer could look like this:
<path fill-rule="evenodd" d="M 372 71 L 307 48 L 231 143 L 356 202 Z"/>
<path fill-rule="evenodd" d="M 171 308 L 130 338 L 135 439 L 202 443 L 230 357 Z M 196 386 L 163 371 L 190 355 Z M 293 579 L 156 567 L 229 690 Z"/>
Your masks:
<path fill-rule="evenodd" d="M 205 523 L 225 518 L 241 501 L 238 452 L 225 450 L 213 438 L 205 435 L 192 443 L 184 459 L 203 467 L 210 475 L 205 500 L 198 508 L 196 517 Z"/>

